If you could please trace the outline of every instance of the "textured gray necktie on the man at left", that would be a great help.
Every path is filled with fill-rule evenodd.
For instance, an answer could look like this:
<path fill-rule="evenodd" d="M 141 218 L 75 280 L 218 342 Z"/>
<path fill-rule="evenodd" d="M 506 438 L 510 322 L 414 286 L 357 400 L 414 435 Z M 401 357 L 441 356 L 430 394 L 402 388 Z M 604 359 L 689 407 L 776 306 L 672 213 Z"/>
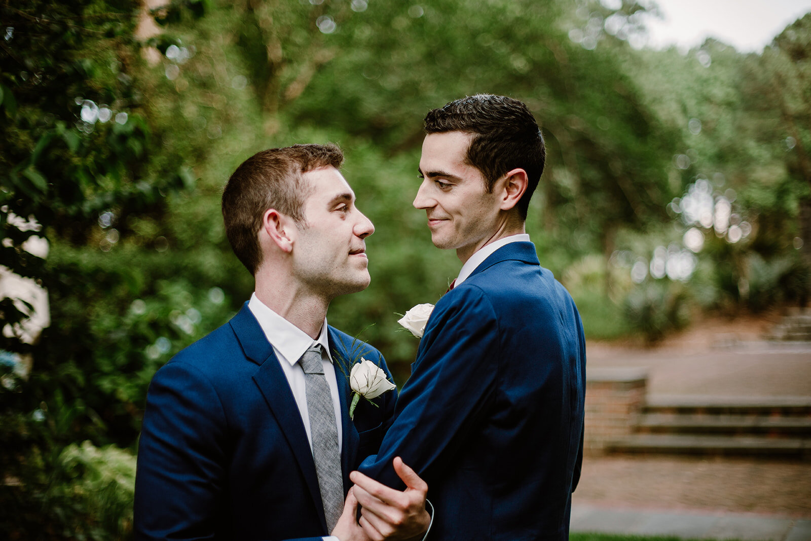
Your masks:
<path fill-rule="evenodd" d="M 318 474 L 318 487 L 321 491 L 321 503 L 324 504 L 327 529 L 332 531 L 344 509 L 344 478 L 341 474 L 341 453 L 338 451 L 335 406 L 327 379 L 324 377 L 320 344 L 310 346 L 299 363 L 304 369 L 315 473 Z"/>

